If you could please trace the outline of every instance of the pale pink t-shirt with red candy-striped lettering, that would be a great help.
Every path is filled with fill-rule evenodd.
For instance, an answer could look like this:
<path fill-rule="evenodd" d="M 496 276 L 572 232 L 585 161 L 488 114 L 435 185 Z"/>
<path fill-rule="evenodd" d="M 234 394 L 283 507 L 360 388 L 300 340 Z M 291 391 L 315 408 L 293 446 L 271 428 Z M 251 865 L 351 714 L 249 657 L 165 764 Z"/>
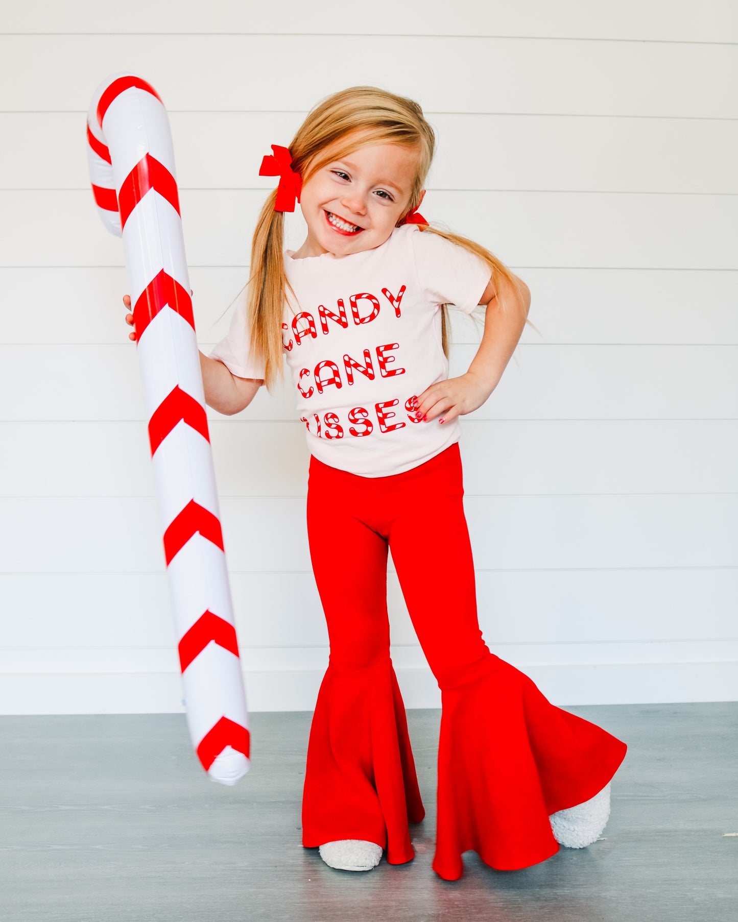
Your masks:
<path fill-rule="evenodd" d="M 293 252 L 285 251 L 284 263 L 298 304 L 285 303 L 282 342 L 311 454 L 353 474 L 386 477 L 458 442 L 458 419 L 417 422 L 410 401 L 448 377 L 440 305 L 471 313 L 488 266 L 416 224 L 362 253 L 293 259 Z M 209 357 L 238 377 L 263 378 L 263 362 L 248 352 L 245 301 L 244 290 Z"/>

